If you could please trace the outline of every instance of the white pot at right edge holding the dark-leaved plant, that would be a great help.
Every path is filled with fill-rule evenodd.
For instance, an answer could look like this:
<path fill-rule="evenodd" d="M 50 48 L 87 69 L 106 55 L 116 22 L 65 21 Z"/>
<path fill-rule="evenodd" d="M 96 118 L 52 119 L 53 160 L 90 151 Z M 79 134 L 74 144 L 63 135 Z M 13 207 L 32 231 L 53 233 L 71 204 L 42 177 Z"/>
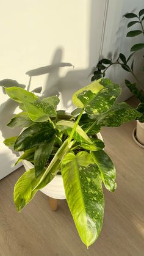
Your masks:
<path fill-rule="evenodd" d="M 137 145 L 144 148 L 144 123 L 140 123 L 137 120 L 137 127 L 134 128 L 132 137 Z"/>

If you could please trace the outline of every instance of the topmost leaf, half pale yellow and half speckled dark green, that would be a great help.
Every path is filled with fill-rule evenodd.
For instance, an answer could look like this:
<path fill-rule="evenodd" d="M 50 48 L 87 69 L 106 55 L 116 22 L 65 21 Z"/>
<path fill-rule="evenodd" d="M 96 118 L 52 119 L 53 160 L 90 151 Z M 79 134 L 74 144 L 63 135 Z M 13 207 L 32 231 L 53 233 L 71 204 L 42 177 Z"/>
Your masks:
<path fill-rule="evenodd" d="M 78 90 L 73 95 L 73 104 L 84 108 L 88 114 L 102 114 L 112 108 L 121 93 L 121 87 L 109 79 L 99 79 Z"/>

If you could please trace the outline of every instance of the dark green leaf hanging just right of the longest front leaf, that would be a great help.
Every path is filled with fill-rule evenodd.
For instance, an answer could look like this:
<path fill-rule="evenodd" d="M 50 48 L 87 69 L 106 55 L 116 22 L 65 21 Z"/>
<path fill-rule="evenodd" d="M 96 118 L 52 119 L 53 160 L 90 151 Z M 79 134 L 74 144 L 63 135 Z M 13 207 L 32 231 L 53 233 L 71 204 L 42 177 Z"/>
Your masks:
<path fill-rule="evenodd" d="M 104 150 L 91 152 L 91 155 L 99 167 L 104 185 L 109 191 L 113 192 L 117 188 L 117 184 L 115 183 L 115 166 L 113 165 L 112 160 Z"/>

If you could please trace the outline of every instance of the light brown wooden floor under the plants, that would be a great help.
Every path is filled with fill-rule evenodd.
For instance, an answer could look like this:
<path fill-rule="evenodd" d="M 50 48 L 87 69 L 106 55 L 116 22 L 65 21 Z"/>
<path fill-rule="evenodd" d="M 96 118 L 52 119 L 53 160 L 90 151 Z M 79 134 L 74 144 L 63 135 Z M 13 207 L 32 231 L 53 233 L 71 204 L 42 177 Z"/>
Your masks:
<path fill-rule="evenodd" d="M 24 169 L 0 181 L 0 256 L 143 256 L 144 150 L 132 140 L 135 122 L 103 128 L 106 151 L 117 167 L 117 190 L 104 189 L 105 214 L 101 235 L 87 249 L 82 244 L 68 205 L 49 209 L 38 192 L 21 213 L 13 205 L 13 186 Z"/>

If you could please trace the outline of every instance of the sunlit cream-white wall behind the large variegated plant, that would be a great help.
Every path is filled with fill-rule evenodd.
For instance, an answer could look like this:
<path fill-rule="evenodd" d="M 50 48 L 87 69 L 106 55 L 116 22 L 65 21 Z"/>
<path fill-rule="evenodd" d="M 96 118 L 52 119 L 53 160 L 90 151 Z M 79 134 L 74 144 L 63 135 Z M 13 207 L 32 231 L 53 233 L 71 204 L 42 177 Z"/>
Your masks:
<path fill-rule="evenodd" d="M 1 0 L 0 80 L 29 83 L 26 71 L 59 62 L 73 67 L 54 66 L 49 74 L 32 77 L 29 90 L 42 86 L 43 95 L 62 92 L 60 107 L 72 109 L 74 90 L 90 81 L 88 75 L 98 61 L 103 30 L 105 0 Z M 0 92 L 1 145 L 0 178 L 13 170 L 15 155 L 2 144 L 16 134 L 5 128 L 15 112 L 15 102 Z"/>

